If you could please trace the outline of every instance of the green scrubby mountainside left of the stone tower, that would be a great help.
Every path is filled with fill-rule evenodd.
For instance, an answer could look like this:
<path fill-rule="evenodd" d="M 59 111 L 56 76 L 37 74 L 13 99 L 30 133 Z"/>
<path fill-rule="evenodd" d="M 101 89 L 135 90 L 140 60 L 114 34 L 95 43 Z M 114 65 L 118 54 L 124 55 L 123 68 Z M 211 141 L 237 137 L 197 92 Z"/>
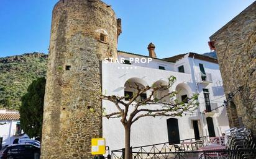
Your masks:
<path fill-rule="evenodd" d="M 0 58 L 0 108 L 19 109 L 33 80 L 45 77 L 47 54 L 27 53 Z"/>

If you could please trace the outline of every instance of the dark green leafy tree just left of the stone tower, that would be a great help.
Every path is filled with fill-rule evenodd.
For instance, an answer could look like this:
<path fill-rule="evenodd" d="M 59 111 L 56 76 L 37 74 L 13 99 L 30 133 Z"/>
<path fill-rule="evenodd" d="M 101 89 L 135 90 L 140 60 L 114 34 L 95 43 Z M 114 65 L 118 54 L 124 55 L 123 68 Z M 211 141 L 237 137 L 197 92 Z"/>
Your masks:
<path fill-rule="evenodd" d="M 21 128 L 29 135 L 41 140 L 43 122 L 43 98 L 45 95 L 45 78 L 34 80 L 29 85 L 27 93 L 22 97 L 19 109 L 21 115 Z"/>

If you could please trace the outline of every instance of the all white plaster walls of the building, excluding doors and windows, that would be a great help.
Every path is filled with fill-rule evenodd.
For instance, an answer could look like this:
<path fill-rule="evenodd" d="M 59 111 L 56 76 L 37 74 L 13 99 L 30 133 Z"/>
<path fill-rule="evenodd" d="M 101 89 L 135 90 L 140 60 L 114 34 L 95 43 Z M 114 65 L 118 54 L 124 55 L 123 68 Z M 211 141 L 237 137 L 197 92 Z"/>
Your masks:
<path fill-rule="evenodd" d="M 121 57 L 137 57 L 132 54 L 119 54 Z M 166 64 L 166 71 L 158 69 L 158 62 Z M 194 74 L 199 73 L 199 63 L 204 64 L 204 69 L 213 75 L 213 83 L 208 85 L 196 84 L 196 77 Z M 194 66 L 193 66 L 194 64 Z M 178 72 L 178 66 L 185 67 L 185 73 Z M 135 68 L 136 66 L 136 68 Z M 177 86 L 185 87 L 189 94 L 199 93 L 200 107 L 198 112 L 205 110 L 203 88 L 209 88 L 211 102 L 216 102 L 218 106 L 223 104 L 225 97 L 222 97 L 222 87 L 216 87 L 217 81 L 221 80 L 219 66 L 212 62 L 201 61 L 199 59 L 188 58 L 188 54 L 173 64 L 172 62 L 158 61 L 153 59 L 150 64 L 111 64 L 103 62 L 103 93 L 107 95 L 124 96 L 124 84 L 131 78 L 141 79 L 144 85 L 152 85 L 157 80 L 168 81 L 170 75 L 176 77 L 176 82 L 171 87 L 175 90 Z M 131 68 L 132 67 L 132 68 Z M 219 82 L 218 82 L 219 84 Z M 103 107 L 106 108 L 107 113 L 116 111 L 116 107 L 109 101 L 103 101 Z M 133 147 L 157 144 L 161 142 L 168 142 L 167 133 L 167 117 L 162 118 L 142 118 L 132 125 L 131 145 Z M 182 118 L 178 118 L 180 139 L 194 138 L 192 120 L 199 120 L 203 135 L 207 129 L 206 116 L 204 114 L 187 114 Z M 222 132 L 229 129 L 226 109 L 220 108 L 213 116 L 214 127 L 217 135 L 217 129 L 221 127 Z M 221 133 L 221 132 L 219 132 Z M 202 132 L 200 132 L 202 134 Z M 103 118 L 103 137 L 106 138 L 106 144 L 111 150 L 116 150 L 124 147 L 124 128 L 120 119 L 106 119 Z"/>

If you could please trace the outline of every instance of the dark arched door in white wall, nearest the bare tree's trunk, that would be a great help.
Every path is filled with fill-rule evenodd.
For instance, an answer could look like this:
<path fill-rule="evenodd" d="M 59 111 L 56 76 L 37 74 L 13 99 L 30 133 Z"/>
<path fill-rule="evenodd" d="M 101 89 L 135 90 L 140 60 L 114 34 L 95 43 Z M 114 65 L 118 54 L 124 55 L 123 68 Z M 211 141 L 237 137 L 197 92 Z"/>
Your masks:
<path fill-rule="evenodd" d="M 180 132 L 178 119 L 167 119 L 168 140 L 169 144 L 180 144 Z"/>

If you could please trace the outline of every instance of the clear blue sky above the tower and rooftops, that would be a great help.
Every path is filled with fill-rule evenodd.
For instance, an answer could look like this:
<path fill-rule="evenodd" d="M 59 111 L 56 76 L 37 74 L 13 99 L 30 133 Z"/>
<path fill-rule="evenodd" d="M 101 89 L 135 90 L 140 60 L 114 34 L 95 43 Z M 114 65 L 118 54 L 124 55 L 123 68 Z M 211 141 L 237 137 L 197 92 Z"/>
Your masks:
<path fill-rule="evenodd" d="M 52 8 L 58 0 L 1 0 L 0 57 L 47 53 Z M 209 37 L 253 0 L 104 0 L 122 19 L 118 49 L 158 58 L 209 52 Z"/>

